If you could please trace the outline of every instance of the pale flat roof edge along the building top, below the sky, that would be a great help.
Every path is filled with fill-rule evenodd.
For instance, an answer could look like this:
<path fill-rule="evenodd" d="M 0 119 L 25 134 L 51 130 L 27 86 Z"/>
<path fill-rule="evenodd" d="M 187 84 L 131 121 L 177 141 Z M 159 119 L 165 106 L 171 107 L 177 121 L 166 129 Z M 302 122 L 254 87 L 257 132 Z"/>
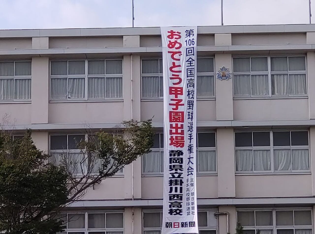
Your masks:
<path fill-rule="evenodd" d="M 315 32 L 315 24 L 198 26 L 198 34 Z M 0 38 L 160 35 L 159 27 L 0 30 Z"/>

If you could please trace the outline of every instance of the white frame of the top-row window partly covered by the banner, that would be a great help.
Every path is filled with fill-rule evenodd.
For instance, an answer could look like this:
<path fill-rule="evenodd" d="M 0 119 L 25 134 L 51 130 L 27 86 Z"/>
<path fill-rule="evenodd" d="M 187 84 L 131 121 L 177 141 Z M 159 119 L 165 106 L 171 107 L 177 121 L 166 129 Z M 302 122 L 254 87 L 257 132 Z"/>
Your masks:
<path fill-rule="evenodd" d="M 197 96 L 197 86 L 195 88 L 195 94 L 197 100 L 215 100 L 215 82 L 216 82 L 216 77 L 215 77 L 215 57 L 214 56 L 198 56 L 197 59 L 199 58 L 211 58 L 213 59 L 213 72 L 197 72 L 196 79 L 198 79 L 198 76 L 213 76 L 213 89 L 214 89 L 214 95 L 213 96 Z M 163 72 L 162 73 L 142 73 L 142 61 L 143 60 L 162 60 L 162 57 L 141 57 L 141 63 L 140 63 L 140 95 L 141 95 L 141 101 L 163 101 L 163 96 L 159 97 L 143 97 L 143 92 L 142 92 L 142 77 L 162 77 L 163 78 Z M 160 71 L 160 62 L 159 62 L 159 71 Z M 162 79 L 163 80 L 163 79 Z M 160 90 L 160 80 L 159 80 L 159 90 Z M 197 80 L 196 80 L 196 85 L 197 85 Z"/>

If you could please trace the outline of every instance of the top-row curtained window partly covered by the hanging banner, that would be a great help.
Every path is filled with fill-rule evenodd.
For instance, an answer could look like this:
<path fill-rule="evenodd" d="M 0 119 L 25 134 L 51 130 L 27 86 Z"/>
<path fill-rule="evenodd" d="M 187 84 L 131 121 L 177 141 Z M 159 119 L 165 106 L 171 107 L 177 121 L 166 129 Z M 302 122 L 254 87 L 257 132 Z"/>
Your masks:
<path fill-rule="evenodd" d="M 162 59 L 142 59 L 142 98 L 163 98 Z M 197 98 L 214 98 L 214 59 L 197 58 Z"/>

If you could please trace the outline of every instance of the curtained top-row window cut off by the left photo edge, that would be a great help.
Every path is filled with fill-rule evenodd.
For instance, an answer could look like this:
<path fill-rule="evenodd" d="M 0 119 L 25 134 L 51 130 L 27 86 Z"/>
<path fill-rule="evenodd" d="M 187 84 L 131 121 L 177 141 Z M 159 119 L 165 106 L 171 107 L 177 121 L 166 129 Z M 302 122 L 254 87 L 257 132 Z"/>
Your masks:
<path fill-rule="evenodd" d="M 0 101 L 31 100 L 31 61 L 0 62 Z"/>

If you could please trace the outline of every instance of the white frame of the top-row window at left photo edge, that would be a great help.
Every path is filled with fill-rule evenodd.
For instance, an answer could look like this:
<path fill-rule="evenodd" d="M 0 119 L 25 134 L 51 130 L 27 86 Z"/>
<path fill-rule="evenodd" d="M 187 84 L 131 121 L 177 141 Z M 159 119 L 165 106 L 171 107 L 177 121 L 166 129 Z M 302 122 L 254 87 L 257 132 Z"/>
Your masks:
<path fill-rule="evenodd" d="M 12 99 L 0 99 L 0 103 L 5 102 L 31 102 L 32 100 L 32 69 L 31 69 L 31 75 L 15 75 L 15 63 L 16 62 L 29 62 L 32 64 L 31 60 L 1 60 L 0 63 L 14 63 L 13 64 L 13 76 L 0 76 L 0 80 L 7 80 L 12 79 L 13 80 L 13 98 Z M 20 79 L 30 79 L 31 80 L 31 90 L 30 90 L 30 99 L 16 99 L 15 98 L 15 80 Z"/>

